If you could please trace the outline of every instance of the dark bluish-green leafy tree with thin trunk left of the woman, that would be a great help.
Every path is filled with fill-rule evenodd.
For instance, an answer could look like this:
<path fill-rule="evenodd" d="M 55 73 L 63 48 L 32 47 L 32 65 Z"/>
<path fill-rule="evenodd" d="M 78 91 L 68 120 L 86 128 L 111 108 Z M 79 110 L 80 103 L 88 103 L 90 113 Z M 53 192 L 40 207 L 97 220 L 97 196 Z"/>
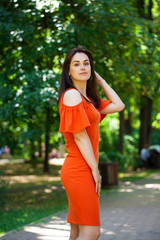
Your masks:
<path fill-rule="evenodd" d="M 3 1 L 0 5 L 3 19 L 0 25 L 0 87 L 4 93 L 1 95 L 1 120 L 17 126 L 21 118 L 26 129 L 22 130 L 21 137 L 23 140 L 30 139 L 32 158 L 34 142 L 43 133 L 47 132 L 46 136 L 49 137 L 48 126 L 57 121 L 57 114 L 54 113 L 57 113 L 55 105 L 59 75 L 54 72 L 57 66 L 56 46 L 51 41 L 54 39 L 50 39 L 52 33 L 56 36 L 57 27 L 50 7 L 38 10 L 35 2 L 29 0 L 24 4 L 21 1 Z M 52 120 L 48 119 L 51 116 Z M 49 170 L 48 137 L 45 171 Z"/>

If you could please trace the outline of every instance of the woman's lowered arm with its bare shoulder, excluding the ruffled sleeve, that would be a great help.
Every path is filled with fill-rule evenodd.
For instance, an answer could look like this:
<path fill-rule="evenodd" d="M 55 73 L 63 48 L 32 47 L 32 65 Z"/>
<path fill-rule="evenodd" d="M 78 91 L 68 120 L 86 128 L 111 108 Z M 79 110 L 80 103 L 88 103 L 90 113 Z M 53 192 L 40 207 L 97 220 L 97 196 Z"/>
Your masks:
<path fill-rule="evenodd" d="M 74 89 L 67 91 L 63 97 L 63 103 L 67 106 L 75 106 L 81 101 L 82 98 L 80 93 Z M 96 192 L 98 195 L 100 195 L 101 177 L 98 171 L 98 165 L 94 156 L 92 144 L 86 129 L 83 129 L 78 133 L 73 133 L 73 136 L 82 156 L 91 168 L 92 176 L 96 185 Z"/>

